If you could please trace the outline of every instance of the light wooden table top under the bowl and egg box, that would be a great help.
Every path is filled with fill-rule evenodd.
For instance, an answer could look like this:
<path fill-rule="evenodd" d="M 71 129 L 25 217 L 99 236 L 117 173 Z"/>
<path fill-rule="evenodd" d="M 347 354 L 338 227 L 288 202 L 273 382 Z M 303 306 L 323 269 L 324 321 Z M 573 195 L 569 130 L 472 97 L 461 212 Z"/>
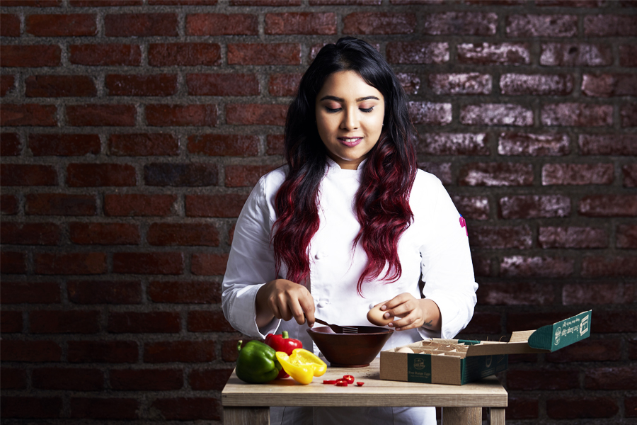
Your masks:
<path fill-rule="evenodd" d="M 379 359 L 366 368 L 330 368 L 325 375 L 301 385 L 287 378 L 267 384 L 247 384 L 233 372 L 222 392 L 226 407 L 258 406 L 378 406 L 378 407 L 507 407 L 507 392 L 495 376 L 466 385 L 398 382 L 379 378 Z M 324 385 L 353 375 L 365 385 Z"/>

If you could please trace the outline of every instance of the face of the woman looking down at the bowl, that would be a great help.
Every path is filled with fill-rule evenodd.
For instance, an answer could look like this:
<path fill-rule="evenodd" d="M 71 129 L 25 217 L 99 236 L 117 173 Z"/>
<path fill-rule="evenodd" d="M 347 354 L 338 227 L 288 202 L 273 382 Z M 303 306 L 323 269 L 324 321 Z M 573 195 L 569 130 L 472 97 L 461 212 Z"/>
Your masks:
<path fill-rule="evenodd" d="M 385 99 L 353 71 L 331 74 L 316 96 L 316 126 L 328 155 L 342 169 L 355 170 L 376 145 L 383 128 Z"/>

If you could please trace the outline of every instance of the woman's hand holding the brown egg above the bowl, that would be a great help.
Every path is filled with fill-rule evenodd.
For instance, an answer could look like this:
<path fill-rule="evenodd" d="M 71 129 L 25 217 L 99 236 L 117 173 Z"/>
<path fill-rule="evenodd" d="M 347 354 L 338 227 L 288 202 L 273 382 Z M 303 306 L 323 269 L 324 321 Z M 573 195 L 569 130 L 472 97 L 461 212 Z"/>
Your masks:
<path fill-rule="evenodd" d="M 406 331 L 418 327 L 440 330 L 440 310 L 432 300 L 418 299 L 410 293 L 402 293 L 392 298 L 381 306 L 384 317 L 396 319 L 389 323 L 396 331 Z"/>

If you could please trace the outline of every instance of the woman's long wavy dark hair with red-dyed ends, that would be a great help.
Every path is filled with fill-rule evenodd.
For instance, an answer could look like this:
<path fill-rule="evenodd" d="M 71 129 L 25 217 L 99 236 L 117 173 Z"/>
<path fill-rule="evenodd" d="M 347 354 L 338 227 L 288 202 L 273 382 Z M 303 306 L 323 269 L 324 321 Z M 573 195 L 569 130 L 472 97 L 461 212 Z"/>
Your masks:
<path fill-rule="evenodd" d="M 340 71 L 356 72 L 380 91 L 385 101 L 383 130 L 362 164 L 355 200 L 361 229 L 354 246 L 360 243 L 367 253 L 367 266 L 357 285 L 362 295 L 362 283 L 377 279 L 386 265 L 384 280 L 393 282 L 401 276 L 398 239 L 413 220 L 409 193 L 417 171 L 417 135 L 409 118 L 407 96 L 384 57 L 363 40 L 345 37 L 324 46 L 289 106 L 285 122 L 289 172 L 275 198 L 278 218 L 272 246 L 277 273 L 285 263 L 289 280 L 300 282 L 309 276 L 307 247 L 319 229 L 319 183 L 327 164 L 327 149 L 316 128 L 316 96 L 327 77 Z"/>

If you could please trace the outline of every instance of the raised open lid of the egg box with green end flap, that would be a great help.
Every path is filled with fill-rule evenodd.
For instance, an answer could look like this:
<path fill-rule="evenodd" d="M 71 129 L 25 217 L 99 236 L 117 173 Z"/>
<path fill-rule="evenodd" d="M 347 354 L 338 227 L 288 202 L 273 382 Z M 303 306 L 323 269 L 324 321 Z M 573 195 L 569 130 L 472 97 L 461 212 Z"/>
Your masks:
<path fill-rule="evenodd" d="M 569 346 L 590 336 L 592 310 L 581 312 L 532 331 L 513 332 L 509 342 L 468 341 L 466 356 L 492 356 L 494 354 L 549 353 Z"/>

